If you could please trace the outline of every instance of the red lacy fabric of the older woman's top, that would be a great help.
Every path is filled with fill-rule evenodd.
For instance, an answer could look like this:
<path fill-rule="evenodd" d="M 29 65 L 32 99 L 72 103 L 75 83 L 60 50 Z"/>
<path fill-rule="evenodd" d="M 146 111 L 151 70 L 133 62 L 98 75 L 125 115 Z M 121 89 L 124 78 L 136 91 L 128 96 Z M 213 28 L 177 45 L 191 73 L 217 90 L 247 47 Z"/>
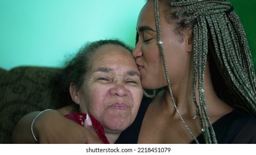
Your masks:
<path fill-rule="evenodd" d="M 101 141 L 103 141 L 105 144 L 109 144 L 109 141 L 107 140 L 104 132 L 103 126 L 100 125 L 100 122 L 96 120 L 93 116 L 89 115 L 91 118 L 91 122 L 93 123 L 93 128 L 97 132 L 99 138 Z M 85 113 L 69 113 L 65 115 L 66 118 L 69 118 L 70 120 L 75 121 L 76 123 L 79 123 L 79 125 L 84 126 L 84 120 L 86 119 Z"/>

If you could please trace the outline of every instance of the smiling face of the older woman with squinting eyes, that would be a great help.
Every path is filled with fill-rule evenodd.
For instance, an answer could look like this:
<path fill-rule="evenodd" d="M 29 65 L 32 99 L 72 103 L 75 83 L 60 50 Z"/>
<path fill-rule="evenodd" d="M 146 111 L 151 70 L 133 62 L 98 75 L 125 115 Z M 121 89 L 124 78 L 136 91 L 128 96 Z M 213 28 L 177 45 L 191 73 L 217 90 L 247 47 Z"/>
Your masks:
<path fill-rule="evenodd" d="M 135 120 L 143 94 L 134 58 L 122 46 L 109 44 L 91 60 L 79 91 L 81 110 L 100 121 L 106 132 L 125 130 Z"/>

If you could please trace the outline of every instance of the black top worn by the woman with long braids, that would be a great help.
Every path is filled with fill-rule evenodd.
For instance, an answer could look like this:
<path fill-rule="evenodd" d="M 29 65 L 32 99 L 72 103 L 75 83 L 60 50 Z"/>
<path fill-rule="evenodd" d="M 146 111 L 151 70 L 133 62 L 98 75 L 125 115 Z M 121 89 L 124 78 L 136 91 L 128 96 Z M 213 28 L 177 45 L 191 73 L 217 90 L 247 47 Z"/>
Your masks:
<path fill-rule="evenodd" d="M 142 99 L 134 123 L 121 133 L 115 143 L 137 143 L 141 124 L 151 101 L 152 99 L 146 97 Z M 256 118 L 238 110 L 233 110 L 219 118 L 212 126 L 218 143 L 256 143 Z M 197 137 L 197 140 L 199 143 L 205 143 L 202 134 Z"/>

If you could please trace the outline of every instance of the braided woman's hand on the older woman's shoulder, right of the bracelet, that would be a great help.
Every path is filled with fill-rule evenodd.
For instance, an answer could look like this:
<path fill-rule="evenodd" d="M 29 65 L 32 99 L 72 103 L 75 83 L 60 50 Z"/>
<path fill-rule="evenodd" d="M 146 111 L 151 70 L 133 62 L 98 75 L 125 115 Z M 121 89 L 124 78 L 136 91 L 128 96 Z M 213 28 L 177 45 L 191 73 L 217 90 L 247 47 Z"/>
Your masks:
<path fill-rule="evenodd" d="M 94 128 L 65 118 L 57 110 L 45 111 L 34 123 L 40 143 L 103 143 Z"/>

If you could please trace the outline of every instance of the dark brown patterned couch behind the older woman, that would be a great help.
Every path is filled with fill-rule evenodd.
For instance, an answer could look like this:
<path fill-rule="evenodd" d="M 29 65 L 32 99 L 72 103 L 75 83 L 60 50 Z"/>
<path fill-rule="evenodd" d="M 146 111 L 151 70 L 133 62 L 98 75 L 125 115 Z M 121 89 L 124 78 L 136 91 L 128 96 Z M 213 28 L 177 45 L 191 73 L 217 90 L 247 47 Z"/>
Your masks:
<path fill-rule="evenodd" d="M 63 106 L 52 80 L 60 71 L 32 66 L 0 68 L 0 143 L 12 143 L 14 126 L 28 112 Z"/>

